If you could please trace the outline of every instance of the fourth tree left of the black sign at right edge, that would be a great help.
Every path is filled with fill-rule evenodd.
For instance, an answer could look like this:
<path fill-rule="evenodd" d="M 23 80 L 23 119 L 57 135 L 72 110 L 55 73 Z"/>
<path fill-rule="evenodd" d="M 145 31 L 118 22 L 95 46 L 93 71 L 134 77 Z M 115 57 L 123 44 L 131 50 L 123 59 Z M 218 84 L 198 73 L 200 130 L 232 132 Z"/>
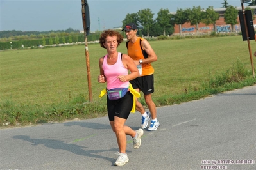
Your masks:
<path fill-rule="evenodd" d="M 189 22 L 188 16 L 190 11 L 191 10 L 189 8 L 185 10 L 178 8 L 178 10 L 176 11 L 175 24 L 179 25 L 180 35 L 182 35 L 182 25 L 185 24 L 186 22 Z"/>

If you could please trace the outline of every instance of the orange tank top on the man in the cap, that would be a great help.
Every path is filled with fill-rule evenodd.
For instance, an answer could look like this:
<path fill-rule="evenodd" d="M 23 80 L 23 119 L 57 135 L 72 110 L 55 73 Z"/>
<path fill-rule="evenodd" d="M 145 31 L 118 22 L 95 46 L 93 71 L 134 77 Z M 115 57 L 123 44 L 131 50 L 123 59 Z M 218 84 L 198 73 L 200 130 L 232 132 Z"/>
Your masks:
<path fill-rule="evenodd" d="M 139 60 L 144 59 L 144 55 L 141 48 L 141 40 L 144 40 L 144 38 L 138 37 L 135 43 L 128 42 L 127 44 L 127 53 L 128 56 L 130 56 L 133 60 Z M 154 73 L 154 68 L 151 65 L 151 63 L 142 63 L 142 74 L 143 75 L 151 75 Z"/>

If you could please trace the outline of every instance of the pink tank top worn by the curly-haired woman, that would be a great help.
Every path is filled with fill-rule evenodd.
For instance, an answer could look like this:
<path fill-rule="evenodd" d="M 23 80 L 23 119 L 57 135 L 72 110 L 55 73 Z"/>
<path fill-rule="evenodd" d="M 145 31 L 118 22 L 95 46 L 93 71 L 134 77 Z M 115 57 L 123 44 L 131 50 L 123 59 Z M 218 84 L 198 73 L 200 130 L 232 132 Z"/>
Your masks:
<path fill-rule="evenodd" d="M 124 67 L 121 53 L 118 52 L 117 62 L 114 65 L 108 65 L 107 56 L 104 56 L 102 68 L 104 70 L 104 74 L 107 78 L 107 89 L 114 88 L 128 88 L 129 81 L 121 82 L 117 76 L 119 75 L 128 75 L 128 69 Z"/>

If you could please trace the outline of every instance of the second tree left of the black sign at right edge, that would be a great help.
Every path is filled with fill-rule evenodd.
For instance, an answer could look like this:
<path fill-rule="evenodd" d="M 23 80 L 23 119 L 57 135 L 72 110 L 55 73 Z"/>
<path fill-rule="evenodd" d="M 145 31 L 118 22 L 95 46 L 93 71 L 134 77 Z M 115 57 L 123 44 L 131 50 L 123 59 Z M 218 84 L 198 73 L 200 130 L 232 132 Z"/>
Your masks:
<path fill-rule="evenodd" d="M 203 13 L 203 19 L 202 22 L 205 23 L 205 25 L 214 25 L 214 31 L 216 32 L 216 20 L 219 19 L 219 13 L 216 13 L 214 11 L 213 6 L 209 6 L 205 12 Z"/>

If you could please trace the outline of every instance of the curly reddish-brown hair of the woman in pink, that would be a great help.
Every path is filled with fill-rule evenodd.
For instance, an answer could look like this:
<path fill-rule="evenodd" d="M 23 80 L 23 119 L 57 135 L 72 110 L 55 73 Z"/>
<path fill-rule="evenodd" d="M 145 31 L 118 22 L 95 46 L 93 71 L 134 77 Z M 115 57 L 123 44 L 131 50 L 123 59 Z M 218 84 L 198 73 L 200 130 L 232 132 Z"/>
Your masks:
<path fill-rule="evenodd" d="M 106 42 L 106 38 L 108 36 L 116 36 L 117 37 L 117 47 L 120 45 L 121 42 L 123 42 L 124 38 L 123 36 L 118 32 L 118 31 L 114 31 L 112 29 L 107 29 L 105 31 L 103 31 L 103 33 L 101 33 L 101 36 L 99 38 L 99 44 L 101 45 L 101 47 L 103 47 L 104 49 L 106 49 L 104 47 L 104 43 Z"/>

